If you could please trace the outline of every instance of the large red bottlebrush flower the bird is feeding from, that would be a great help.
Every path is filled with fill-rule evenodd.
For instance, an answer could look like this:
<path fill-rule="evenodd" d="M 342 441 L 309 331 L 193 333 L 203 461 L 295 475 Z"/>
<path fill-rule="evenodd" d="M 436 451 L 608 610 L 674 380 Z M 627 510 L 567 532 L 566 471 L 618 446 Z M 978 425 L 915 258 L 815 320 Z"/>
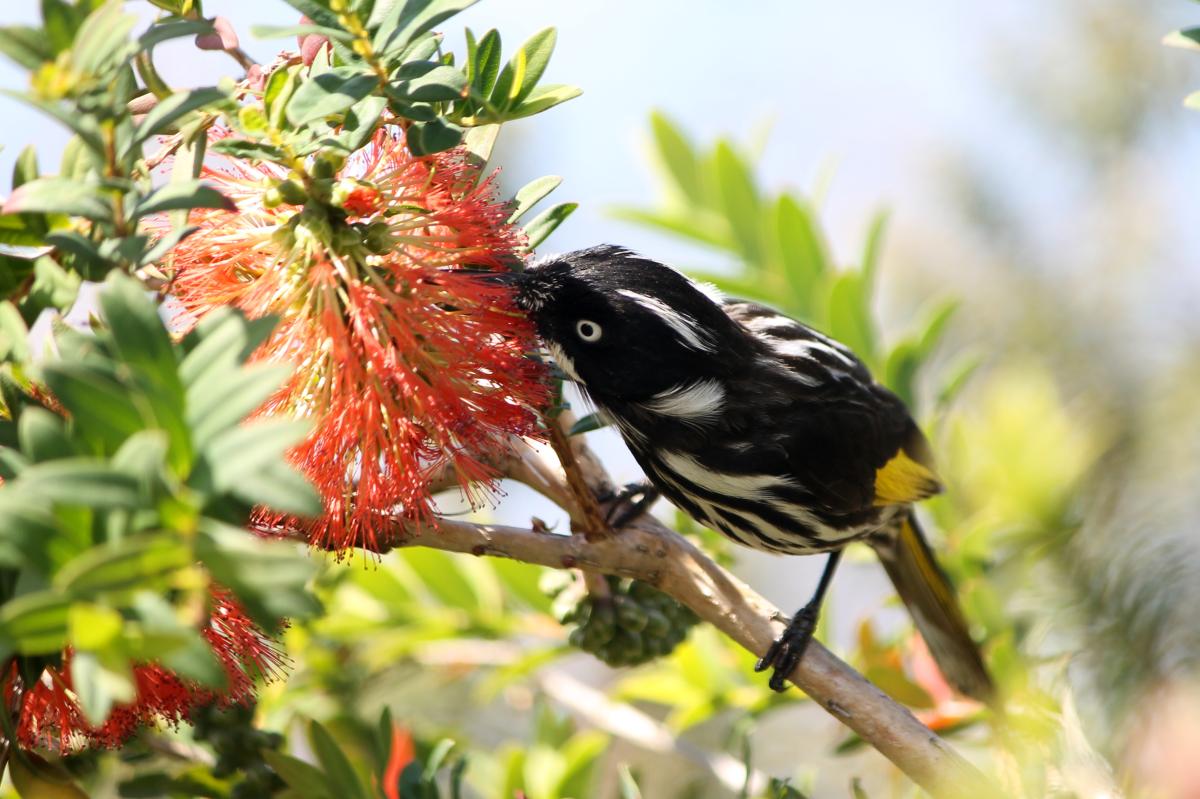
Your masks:
<path fill-rule="evenodd" d="M 312 542 L 376 548 L 396 515 L 431 521 L 431 482 L 446 474 L 484 499 L 487 457 L 534 434 L 547 400 L 509 290 L 446 269 L 516 258 L 520 234 L 491 181 L 462 152 L 414 157 L 386 132 L 337 176 L 349 218 L 317 203 L 269 208 L 276 167 L 205 178 L 238 211 L 193 214 L 200 229 L 175 250 L 174 292 L 197 317 L 234 305 L 280 318 L 256 358 L 295 372 L 260 413 L 314 422 L 292 452 L 325 501 Z"/>

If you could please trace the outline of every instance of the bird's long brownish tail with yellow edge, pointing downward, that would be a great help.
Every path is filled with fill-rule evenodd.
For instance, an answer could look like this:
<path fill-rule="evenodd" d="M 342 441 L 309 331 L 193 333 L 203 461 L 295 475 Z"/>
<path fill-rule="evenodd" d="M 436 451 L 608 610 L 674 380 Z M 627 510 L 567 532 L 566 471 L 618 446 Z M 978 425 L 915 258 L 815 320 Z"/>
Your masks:
<path fill-rule="evenodd" d="M 971 638 L 954 587 L 937 565 L 913 512 L 870 542 L 947 681 L 971 698 L 991 702 L 996 687 Z"/>

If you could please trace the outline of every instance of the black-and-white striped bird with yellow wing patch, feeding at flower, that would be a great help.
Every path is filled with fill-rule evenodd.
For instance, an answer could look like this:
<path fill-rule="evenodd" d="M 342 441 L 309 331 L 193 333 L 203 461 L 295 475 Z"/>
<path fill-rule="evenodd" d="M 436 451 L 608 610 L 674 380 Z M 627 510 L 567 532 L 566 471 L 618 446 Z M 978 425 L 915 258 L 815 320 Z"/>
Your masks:
<path fill-rule="evenodd" d="M 994 684 L 913 505 L 942 489 L 904 402 L 846 346 L 616 245 L 512 272 L 516 306 L 558 368 L 620 433 L 659 494 L 736 543 L 826 554 L 811 600 L 756 663 L 786 689 L 847 545 L 878 554 L 943 675 Z"/>

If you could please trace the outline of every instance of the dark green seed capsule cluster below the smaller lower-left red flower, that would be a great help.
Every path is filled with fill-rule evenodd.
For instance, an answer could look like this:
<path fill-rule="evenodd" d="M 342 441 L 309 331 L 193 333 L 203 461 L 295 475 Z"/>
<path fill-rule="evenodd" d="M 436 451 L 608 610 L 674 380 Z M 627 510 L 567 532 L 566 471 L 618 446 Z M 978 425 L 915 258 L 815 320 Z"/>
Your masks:
<path fill-rule="evenodd" d="M 242 775 L 229 792 L 229 799 L 270 797 L 284 787 L 283 780 L 262 755 L 264 749 L 278 749 L 283 744 L 283 735 L 258 729 L 253 721 L 253 704 L 234 704 L 228 708 L 209 704 L 197 708 L 192 714 L 196 739 L 208 741 L 217 756 L 212 776 L 224 779 L 234 774 Z"/>

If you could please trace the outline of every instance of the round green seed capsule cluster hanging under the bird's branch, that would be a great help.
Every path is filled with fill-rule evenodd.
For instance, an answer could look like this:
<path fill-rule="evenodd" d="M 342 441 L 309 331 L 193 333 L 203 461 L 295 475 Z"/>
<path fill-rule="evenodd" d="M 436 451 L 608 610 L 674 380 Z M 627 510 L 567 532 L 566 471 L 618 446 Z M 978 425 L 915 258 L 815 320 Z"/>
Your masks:
<path fill-rule="evenodd" d="M 542 590 L 572 647 L 610 666 L 637 666 L 671 654 L 698 621 L 696 614 L 648 583 L 605 577 L 607 595 L 583 588 L 571 572 L 547 572 Z"/>

